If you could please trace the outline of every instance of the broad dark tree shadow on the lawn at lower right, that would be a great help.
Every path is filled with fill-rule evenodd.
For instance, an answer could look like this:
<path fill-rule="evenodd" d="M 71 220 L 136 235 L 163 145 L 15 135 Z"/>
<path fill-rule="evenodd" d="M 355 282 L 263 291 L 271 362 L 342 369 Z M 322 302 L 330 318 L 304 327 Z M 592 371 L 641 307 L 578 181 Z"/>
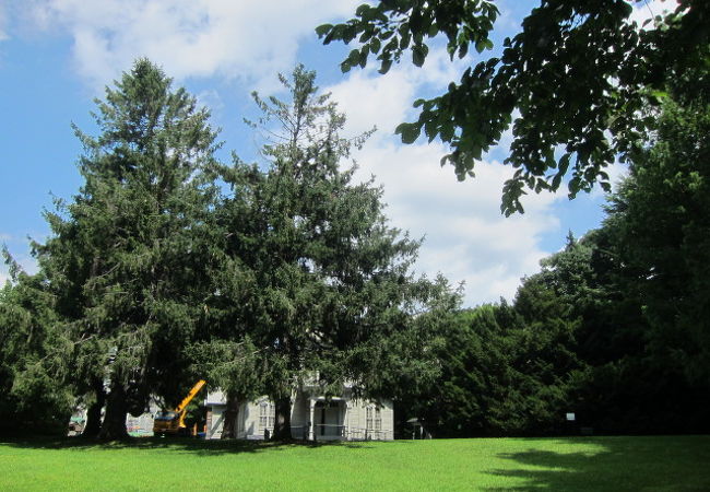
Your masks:
<path fill-rule="evenodd" d="M 499 454 L 512 466 L 488 473 L 519 485 L 487 490 L 710 490 L 710 436 L 570 437 L 554 444 L 559 452 Z M 566 453 L 570 445 L 585 450 Z"/>

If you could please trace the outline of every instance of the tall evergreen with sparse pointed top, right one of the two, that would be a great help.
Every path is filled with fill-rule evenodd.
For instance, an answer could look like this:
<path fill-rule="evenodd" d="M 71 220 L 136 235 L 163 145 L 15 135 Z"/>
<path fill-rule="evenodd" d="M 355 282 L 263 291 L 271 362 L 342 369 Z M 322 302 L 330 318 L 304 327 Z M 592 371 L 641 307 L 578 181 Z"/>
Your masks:
<path fill-rule="evenodd" d="M 341 167 L 366 136 L 341 137 L 344 116 L 313 72 L 298 67 L 281 80 L 291 101 L 255 95 L 263 112 L 255 126 L 273 136 L 267 163 L 224 169 L 233 194 L 220 227 L 235 277 L 213 302 L 227 321 L 223 336 L 249 335 L 276 405 L 274 437 L 289 438 L 292 393 L 316 374 L 329 395 L 345 382 L 357 394 L 391 391 L 415 350 L 427 356 L 428 328 L 414 323 L 415 311 L 447 288 L 412 277 L 419 243 L 388 225 L 379 187 Z"/>

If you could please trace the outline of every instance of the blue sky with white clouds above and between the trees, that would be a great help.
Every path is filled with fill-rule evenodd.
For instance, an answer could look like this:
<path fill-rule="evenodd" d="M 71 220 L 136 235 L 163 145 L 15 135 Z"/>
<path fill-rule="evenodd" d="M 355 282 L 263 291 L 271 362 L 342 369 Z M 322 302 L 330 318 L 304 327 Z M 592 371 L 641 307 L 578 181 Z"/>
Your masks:
<path fill-rule="evenodd" d="M 95 133 L 94 98 L 137 58 L 159 65 L 211 109 L 225 162 L 232 151 L 258 159 L 263 142 L 244 124 L 258 116 L 250 93 L 283 95 L 276 74 L 303 62 L 347 115 L 346 134 L 377 127 L 354 154 L 357 176 L 374 175 L 383 186 L 391 225 L 425 237 L 416 272 L 464 282 L 465 306 L 511 300 L 520 279 L 559 250 L 568 231 L 579 237 L 599 226 L 604 194 L 596 189 L 572 201 L 565 190 L 533 194 L 523 200 L 524 214 L 505 218 L 500 195 L 511 169 L 500 163 L 509 134 L 463 183 L 451 166 L 439 166 L 447 153 L 441 143 L 402 144 L 393 131 L 415 119 L 413 101 L 443 92 L 477 55 L 451 63 L 435 46 L 421 69 L 405 62 L 387 75 L 370 66 L 343 74 L 339 62 L 351 48 L 323 46 L 313 30 L 350 19 L 362 1 L 0 0 L 0 244 L 26 271 L 36 271 L 28 238 L 48 237 L 43 211 L 56 199 L 71 200 L 82 184 L 82 149 L 71 124 Z M 497 2 L 494 51 L 536 3 Z M 659 14 L 667 3 L 641 2 L 634 16 Z M 624 172 L 614 166 L 613 179 Z M 0 266 L 0 284 L 7 279 Z"/>

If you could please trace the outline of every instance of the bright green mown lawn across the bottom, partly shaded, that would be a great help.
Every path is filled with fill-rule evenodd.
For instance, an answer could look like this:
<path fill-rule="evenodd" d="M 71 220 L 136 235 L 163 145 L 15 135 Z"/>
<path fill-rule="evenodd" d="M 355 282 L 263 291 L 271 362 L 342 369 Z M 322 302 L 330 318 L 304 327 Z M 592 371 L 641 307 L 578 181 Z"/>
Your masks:
<path fill-rule="evenodd" d="M 710 490 L 710 436 L 274 445 L 0 438 L 0 490 Z"/>

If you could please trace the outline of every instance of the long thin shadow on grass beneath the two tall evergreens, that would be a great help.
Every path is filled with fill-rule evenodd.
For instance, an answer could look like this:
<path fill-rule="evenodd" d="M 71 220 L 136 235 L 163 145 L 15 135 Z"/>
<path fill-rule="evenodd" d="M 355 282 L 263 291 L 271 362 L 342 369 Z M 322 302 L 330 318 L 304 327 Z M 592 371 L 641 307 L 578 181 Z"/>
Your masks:
<path fill-rule="evenodd" d="M 244 440 L 198 440 L 190 437 L 129 437 L 122 441 L 98 441 L 85 437 L 10 437 L 0 441 L 11 447 L 31 449 L 165 449 L 171 453 L 188 453 L 198 456 L 212 456 L 239 453 L 263 453 L 273 450 L 322 447 L 345 447 L 367 449 L 372 446 L 366 442 L 312 442 L 312 441 L 244 441 Z"/>

